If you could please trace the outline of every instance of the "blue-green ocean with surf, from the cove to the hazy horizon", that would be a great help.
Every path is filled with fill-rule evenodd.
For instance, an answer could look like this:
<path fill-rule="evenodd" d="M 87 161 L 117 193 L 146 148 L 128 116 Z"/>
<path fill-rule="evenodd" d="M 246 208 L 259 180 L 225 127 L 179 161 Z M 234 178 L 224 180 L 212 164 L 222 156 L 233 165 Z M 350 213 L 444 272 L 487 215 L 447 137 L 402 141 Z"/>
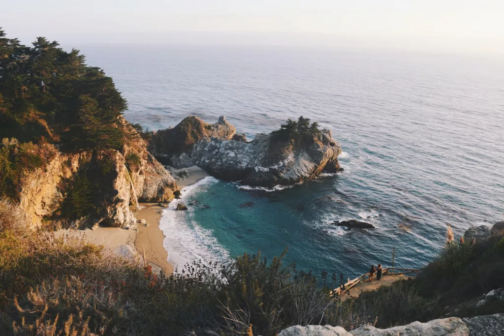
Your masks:
<path fill-rule="evenodd" d="M 471 225 L 504 220 L 504 61 L 476 56 L 230 46 L 81 46 L 148 129 L 188 115 L 238 132 L 300 115 L 332 129 L 343 173 L 264 190 L 206 178 L 199 206 L 163 213 L 169 261 L 221 263 L 243 252 L 320 275 L 371 264 L 420 267 Z M 251 207 L 240 207 L 246 201 Z M 374 230 L 331 223 L 359 219 Z"/>

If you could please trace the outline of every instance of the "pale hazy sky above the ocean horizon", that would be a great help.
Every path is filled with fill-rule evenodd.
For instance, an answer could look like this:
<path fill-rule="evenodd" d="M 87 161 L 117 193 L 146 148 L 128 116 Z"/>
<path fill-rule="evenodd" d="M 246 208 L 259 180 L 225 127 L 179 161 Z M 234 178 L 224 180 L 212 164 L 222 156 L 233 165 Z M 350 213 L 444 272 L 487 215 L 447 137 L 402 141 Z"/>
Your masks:
<path fill-rule="evenodd" d="M 504 0 L 0 0 L 31 42 L 334 45 L 504 53 Z"/>

